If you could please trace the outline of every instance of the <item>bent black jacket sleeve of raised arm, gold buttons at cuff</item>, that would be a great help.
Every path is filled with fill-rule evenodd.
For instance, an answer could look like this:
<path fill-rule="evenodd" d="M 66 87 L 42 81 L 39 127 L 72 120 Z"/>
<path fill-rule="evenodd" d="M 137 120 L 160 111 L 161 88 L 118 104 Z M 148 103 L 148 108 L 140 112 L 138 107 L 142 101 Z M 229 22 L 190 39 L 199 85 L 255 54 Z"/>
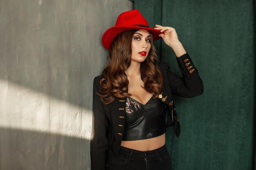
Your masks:
<path fill-rule="evenodd" d="M 176 57 L 176 59 L 182 77 L 171 72 L 169 70 L 170 67 L 167 66 L 168 80 L 172 93 L 181 97 L 195 97 L 201 95 L 204 91 L 203 82 L 189 54 L 185 53 L 180 57 Z"/>

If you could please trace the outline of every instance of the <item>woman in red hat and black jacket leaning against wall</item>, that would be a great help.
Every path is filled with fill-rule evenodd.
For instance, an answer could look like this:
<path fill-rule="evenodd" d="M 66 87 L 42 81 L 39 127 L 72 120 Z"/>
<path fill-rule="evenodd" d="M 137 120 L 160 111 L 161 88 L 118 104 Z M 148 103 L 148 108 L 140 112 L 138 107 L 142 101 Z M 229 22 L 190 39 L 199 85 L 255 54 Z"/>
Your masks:
<path fill-rule="evenodd" d="M 166 122 L 180 134 L 172 95 L 201 95 L 203 84 L 175 29 L 155 26 L 149 28 L 138 10 L 126 11 L 102 36 L 109 53 L 102 75 L 94 78 L 92 170 L 171 170 Z M 173 49 L 182 77 L 168 64 L 156 64 L 153 41 L 159 38 Z M 166 110 L 172 115 L 167 121 Z"/>

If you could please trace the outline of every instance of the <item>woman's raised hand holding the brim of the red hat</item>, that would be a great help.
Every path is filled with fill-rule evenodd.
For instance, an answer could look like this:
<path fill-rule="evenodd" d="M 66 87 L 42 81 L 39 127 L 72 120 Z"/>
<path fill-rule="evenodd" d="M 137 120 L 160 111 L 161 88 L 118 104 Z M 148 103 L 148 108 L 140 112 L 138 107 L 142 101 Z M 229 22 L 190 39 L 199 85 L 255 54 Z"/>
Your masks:
<path fill-rule="evenodd" d="M 157 24 L 155 26 L 156 27 L 154 29 L 163 32 L 162 34 L 159 34 L 159 37 L 162 37 L 165 44 L 167 44 L 168 46 L 172 47 L 173 44 L 180 42 L 174 28 L 170 26 L 161 26 Z"/>

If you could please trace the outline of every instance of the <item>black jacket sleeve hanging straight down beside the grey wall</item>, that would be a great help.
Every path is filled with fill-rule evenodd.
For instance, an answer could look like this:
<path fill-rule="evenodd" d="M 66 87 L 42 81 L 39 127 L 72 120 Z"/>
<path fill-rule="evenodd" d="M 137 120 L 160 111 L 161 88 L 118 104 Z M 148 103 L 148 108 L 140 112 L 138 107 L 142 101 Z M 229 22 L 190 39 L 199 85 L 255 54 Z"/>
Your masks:
<path fill-rule="evenodd" d="M 99 81 L 101 76 L 95 77 L 93 81 L 93 103 L 92 103 L 92 135 L 90 141 L 91 169 L 106 170 L 108 162 L 108 132 L 109 122 L 106 117 L 106 109 L 100 101 Z"/>

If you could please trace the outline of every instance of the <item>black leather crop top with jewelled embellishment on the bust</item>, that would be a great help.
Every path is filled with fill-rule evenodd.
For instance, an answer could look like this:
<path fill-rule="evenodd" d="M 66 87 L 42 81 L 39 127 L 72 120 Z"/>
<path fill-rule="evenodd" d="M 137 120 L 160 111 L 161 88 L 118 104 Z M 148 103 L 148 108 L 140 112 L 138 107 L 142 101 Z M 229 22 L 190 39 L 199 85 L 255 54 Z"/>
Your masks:
<path fill-rule="evenodd" d="M 145 104 L 127 97 L 123 141 L 134 141 L 160 136 L 166 132 L 164 104 L 153 96 Z"/>

